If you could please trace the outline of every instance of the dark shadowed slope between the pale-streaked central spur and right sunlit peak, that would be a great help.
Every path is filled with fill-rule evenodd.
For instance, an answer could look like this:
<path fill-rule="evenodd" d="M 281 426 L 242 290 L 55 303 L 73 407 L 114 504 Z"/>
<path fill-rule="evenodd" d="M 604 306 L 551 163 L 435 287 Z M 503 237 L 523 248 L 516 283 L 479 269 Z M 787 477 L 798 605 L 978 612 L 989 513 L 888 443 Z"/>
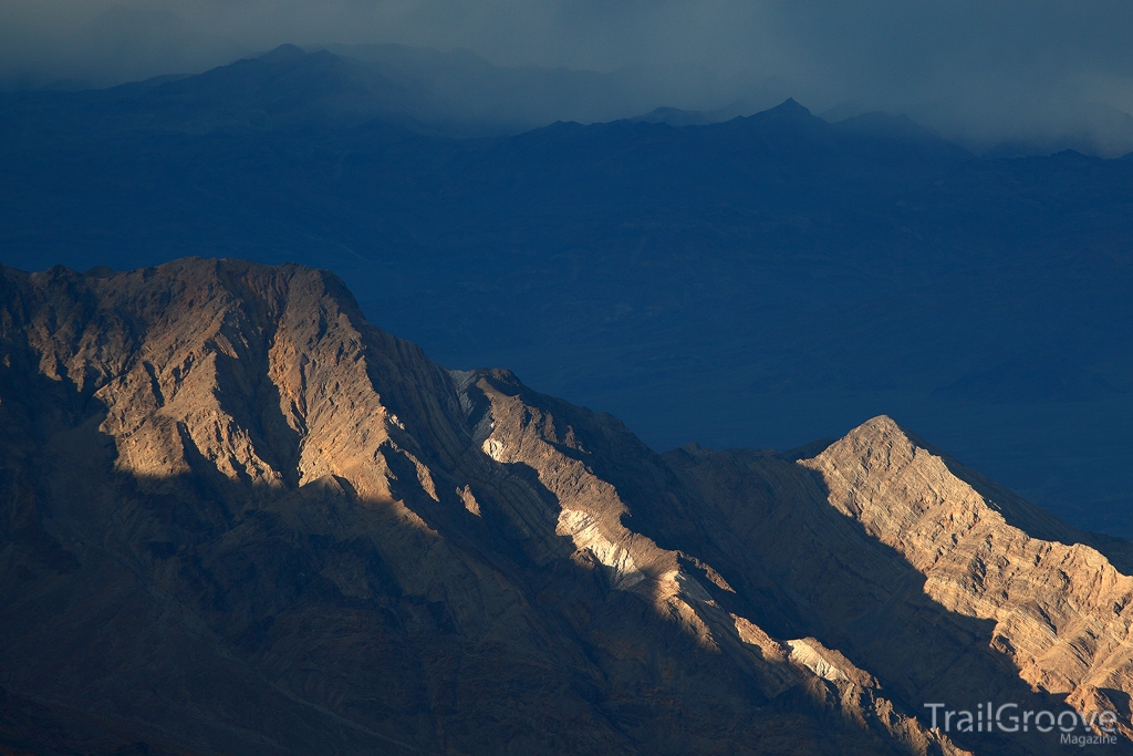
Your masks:
<path fill-rule="evenodd" d="M 704 473 L 715 486 L 705 490 L 702 479 L 689 475 L 697 465 L 692 455 L 678 450 L 663 462 L 616 419 L 502 377 L 493 382 L 496 389 L 550 411 L 556 427 L 571 428 L 579 444 L 560 451 L 583 459 L 615 486 L 630 510 L 622 524 L 680 552 L 684 569 L 699 574 L 726 611 L 782 639 L 812 636 L 842 651 L 926 725 L 931 719 L 923 704 L 932 702 L 973 712 L 987 700 L 1065 708 L 1063 696 L 1037 694 L 1020 679 L 996 647 L 994 621 L 934 602 L 921 572 L 830 507 L 817 472 L 770 453 L 708 453 L 699 458 L 722 465 Z M 955 740 L 991 753 L 1059 747 L 1057 733 L 959 733 Z"/>

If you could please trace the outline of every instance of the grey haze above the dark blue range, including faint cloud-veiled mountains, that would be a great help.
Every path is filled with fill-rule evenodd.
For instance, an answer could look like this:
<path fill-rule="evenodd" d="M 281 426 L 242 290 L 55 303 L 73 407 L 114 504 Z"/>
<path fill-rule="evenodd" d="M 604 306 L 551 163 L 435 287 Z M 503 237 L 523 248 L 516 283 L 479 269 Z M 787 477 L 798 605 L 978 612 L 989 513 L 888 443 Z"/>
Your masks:
<path fill-rule="evenodd" d="M 1121 0 L 9 0 L 0 20 L 8 91 L 199 74 L 292 43 L 386 73 L 409 62 L 426 85 L 444 71 L 466 112 L 531 99 L 525 114 L 554 118 L 530 127 L 658 107 L 749 116 L 793 96 L 834 118 L 906 113 L 980 153 L 1133 151 Z"/>

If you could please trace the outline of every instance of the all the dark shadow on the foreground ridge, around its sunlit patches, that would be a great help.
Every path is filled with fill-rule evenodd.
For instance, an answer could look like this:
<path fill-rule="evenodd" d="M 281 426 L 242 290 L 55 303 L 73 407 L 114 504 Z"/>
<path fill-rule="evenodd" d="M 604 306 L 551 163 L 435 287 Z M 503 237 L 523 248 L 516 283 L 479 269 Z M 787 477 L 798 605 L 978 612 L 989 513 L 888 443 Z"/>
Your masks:
<path fill-rule="evenodd" d="M 239 281 L 224 283 L 238 290 Z M 22 306 L 14 298 L 10 309 Z M 224 312 L 253 325 L 262 315 Z M 57 328 L 54 311 L 51 318 Z M 208 396 L 286 467 L 297 441 L 290 427 L 276 432 L 280 394 L 256 356 L 271 335 L 259 326 L 248 329 L 262 340 L 245 342 L 246 358 L 215 363 L 208 390 L 218 393 Z M 484 397 L 452 421 L 463 425 L 441 427 L 449 415 L 431 407 L 460 406 L 449 374 L 425 371 L 436 382 L 426 384 L 408 352 L 395 351 L 411 345 L 373 326 L 359 333 L 384 339 L 363 376 L 382 390 L 382 407 L 424 418 L 417 457 L 408 432 L 402 447 L 391 436 L 366 450 L 367 465 L 389 470 L 389 496 L 361 496 L 337 474 L 301 486 L 298 472 L 254 483 L 165 416 L 184 472 L 121 469 L 116 443 L 125 436 L 102 430 L 109 410 L 95 396 L 118 375 L 49 377 L 58 358 L 45 367 L 51 360 L 24 331 L 0 331 L 0 681 L 9 702 L 0 733 L 11 747 L 896 753 L 844 719 L 827 682 L 768 694 L 726 653 L 743 647 L 738 630 L 713 648 L 647 597 L 612 589 L 595 561 L 574 561 L 573 542 L 555 527 L 563 502 L 540 470 L 489 461 L 476 444 L 476 426 L 492 419 Z M 504 371 L 479 376 L 521 397 L 519 425 L 543 413 L 548 448 L 562 455 L 552 461 L 581 462 L 611 484 L 628 508 L 619 525 L 678 552 L 723 611 L 780 640 L 818 638 L 879 677 L 884 695 L 922 722 L 930 700 L 1057 703 L 1032 694 L 991 647 L 989 622 L 928 600 L 919 572 L 834 511 L 815 473 L 760 452 L 662 460 L 608 415 L 531 392 Z M 29 720 L 35 706 L 45 713 Z M 32 720 L 46 730 L 39 745 L 27 744 Z M 1004 754 L 1046 747 L 973 742 Z"/>

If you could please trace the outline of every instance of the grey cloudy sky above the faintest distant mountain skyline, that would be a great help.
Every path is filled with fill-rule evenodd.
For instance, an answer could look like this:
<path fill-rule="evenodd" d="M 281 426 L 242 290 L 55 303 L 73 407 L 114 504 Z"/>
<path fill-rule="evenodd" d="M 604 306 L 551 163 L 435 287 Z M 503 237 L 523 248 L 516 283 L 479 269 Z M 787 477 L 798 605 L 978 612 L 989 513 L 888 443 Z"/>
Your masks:
<path fill-rule="evenodd" d="M 202 70 L 282 42 L 676 65 L 736 92 L 778 77 L 816 111 L 852 100 L 953 134 L 1073 130 L 1083 102 L 1133 112 L 1131 0 L 0 0 L 9 88 Z M 1119 113 L 1085 110 L 1124 128 Z"/>

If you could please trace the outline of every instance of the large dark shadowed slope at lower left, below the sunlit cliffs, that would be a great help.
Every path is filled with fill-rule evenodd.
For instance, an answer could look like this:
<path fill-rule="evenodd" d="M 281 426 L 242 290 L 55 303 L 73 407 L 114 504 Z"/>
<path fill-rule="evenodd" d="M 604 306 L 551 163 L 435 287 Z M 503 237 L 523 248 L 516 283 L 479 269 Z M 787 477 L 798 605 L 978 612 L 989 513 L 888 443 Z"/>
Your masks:
<path fill-rule="evenodd" d="M 403 506 L 330 476 L 233 481 L 191 452 L 185 475 L 139 477 L 116 470 L 101 402 L 28 357 L 0 373 L 8 748 L 888 749 L 813 702 L 768 706 L 600 572 L 522 559 L 527 536 L 494 527 L 499 502 L 510 486 L 550 494 L 521 469 L 499 493 L 472 483 L 479 525 L 408 469 Z"/>

